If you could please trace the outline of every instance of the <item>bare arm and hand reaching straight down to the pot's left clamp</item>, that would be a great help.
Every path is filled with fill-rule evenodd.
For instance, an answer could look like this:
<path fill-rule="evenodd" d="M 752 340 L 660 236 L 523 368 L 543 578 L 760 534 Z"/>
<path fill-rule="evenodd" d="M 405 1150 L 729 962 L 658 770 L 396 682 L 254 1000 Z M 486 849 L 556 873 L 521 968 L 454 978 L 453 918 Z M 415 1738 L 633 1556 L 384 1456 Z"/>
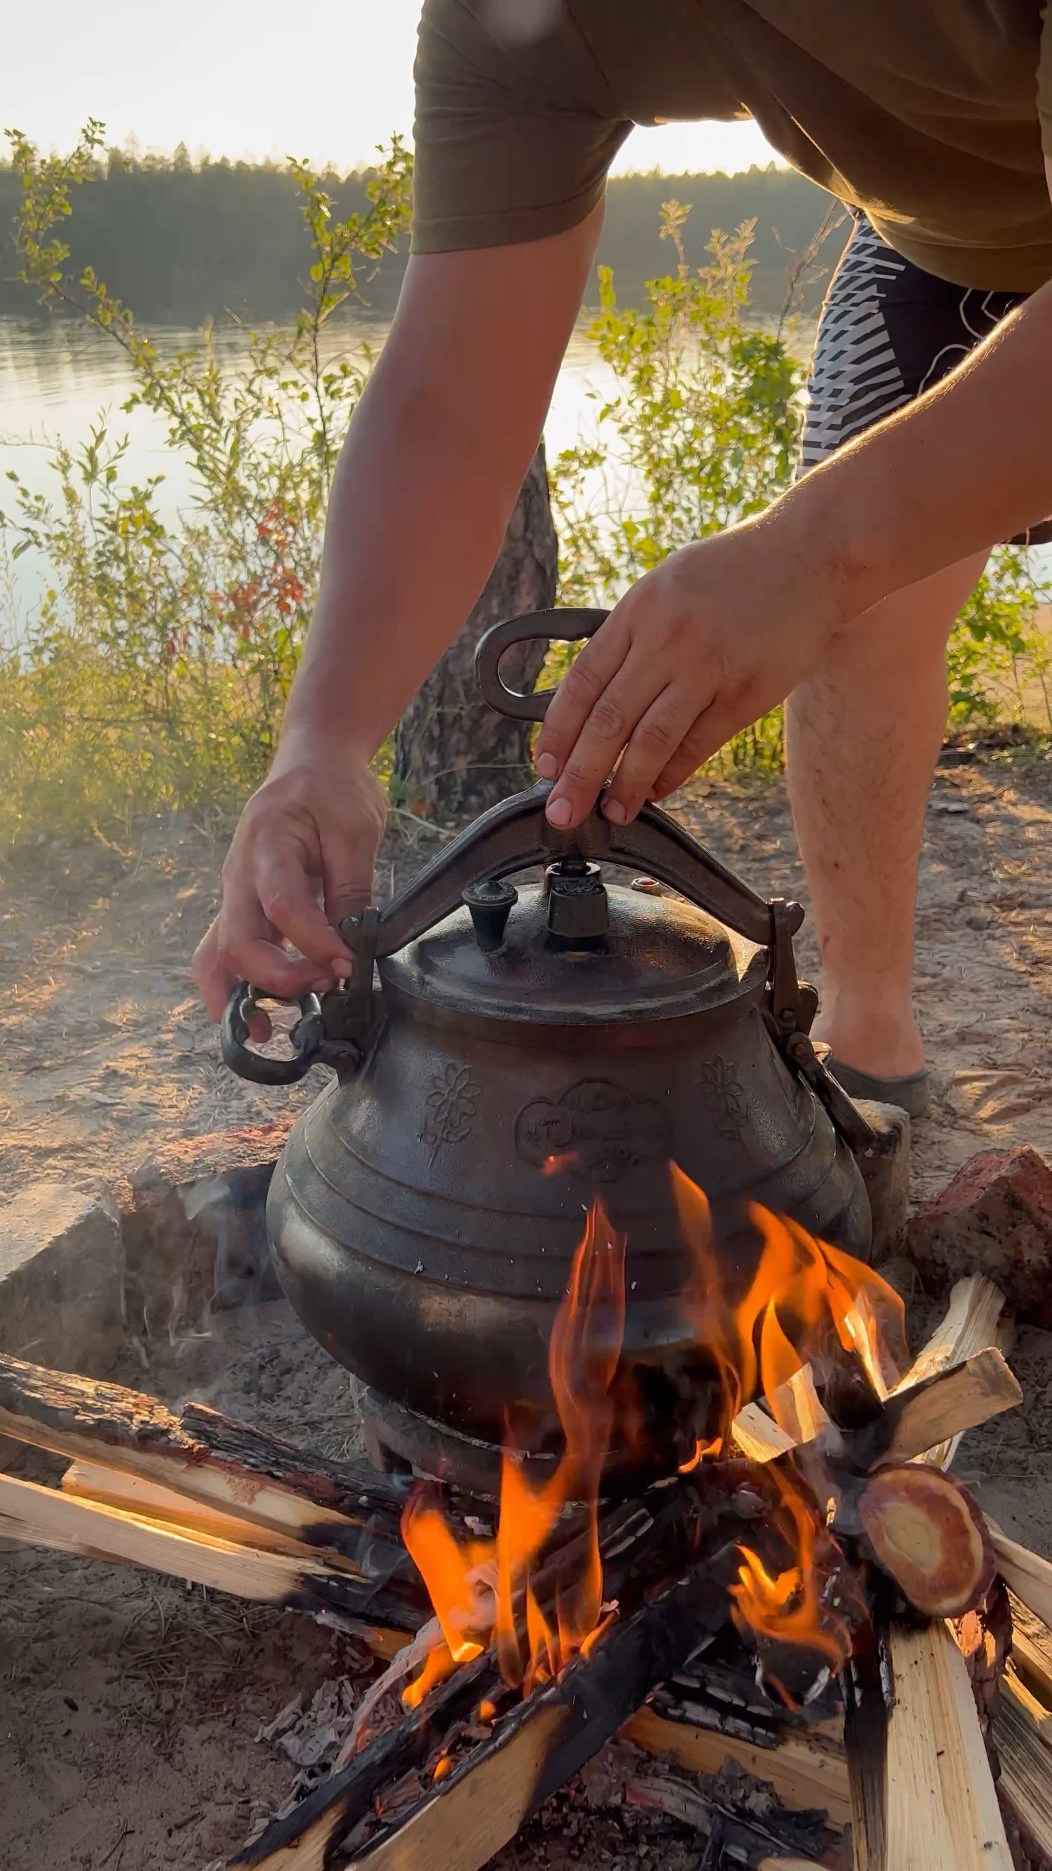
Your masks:
<path fill-rule="evenodd" d="M 298 995 L 350 969 L 337 924 L 371 896 L 384 825 L 369 760 L 492 571 L 599 226 L 601 210 L 550 239 L 410 262 L 337 470 L 281 748 L 195 958 L 213 1016 L 240 977 Z"/>

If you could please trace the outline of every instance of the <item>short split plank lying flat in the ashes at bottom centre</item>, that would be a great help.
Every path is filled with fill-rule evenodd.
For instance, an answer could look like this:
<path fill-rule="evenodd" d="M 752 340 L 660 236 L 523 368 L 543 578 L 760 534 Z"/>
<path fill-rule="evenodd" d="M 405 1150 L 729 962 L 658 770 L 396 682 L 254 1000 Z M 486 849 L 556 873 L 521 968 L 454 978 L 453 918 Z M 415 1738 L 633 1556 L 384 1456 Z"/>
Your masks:
<path fill-rule="evenodd" d="M 824 1807 L 833 1826 L 846 1826 L 852 1819 L 844 1749 L 807 1733 L 786 1729 L 777 1748 L 754 1748 L 730 1734 L 666 1721 L 653 1708 L 640 1708 L 625 1736 L 644 1753 L 672 1755 L 693 1774 L 719 1774 L 724 1761 L 734 1761 L 773 1787 L 792 1811 Z"/>

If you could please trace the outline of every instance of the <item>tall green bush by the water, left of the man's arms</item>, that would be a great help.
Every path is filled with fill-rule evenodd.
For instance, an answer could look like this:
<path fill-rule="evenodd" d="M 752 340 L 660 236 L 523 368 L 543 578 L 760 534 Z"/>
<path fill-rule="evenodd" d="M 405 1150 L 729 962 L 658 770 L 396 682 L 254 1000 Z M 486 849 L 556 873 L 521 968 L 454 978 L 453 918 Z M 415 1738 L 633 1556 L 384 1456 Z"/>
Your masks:
<path fill-rule="evenodd" d="M 120 344 L 135 374 L 125 410 L 161 415 L 191 464 L 178 529 L 155 477 L 129 486 L 124 443 L 95 430 L 54 453 L 56 494 L 17 473 L 0 515 L 11 558 L 36 548 L 51 586 L 21 642 L 0 653 L 0 842 L 45 825 L 127 823 L 137 812 L 232 812 L 262 778 L 318 586 L 324 515 L 371 355 L 326 365 L 322 333 L 408 225 L 412 163 L 393 142 L 367 181 L 369 210 L 331 219 L 303 163 L 290 172 L 311 236 L 307 303 L 286 331 L 253 333 L 243 361 L 204 342 L 163 361 L 88 268 L 67 279 L 58 238 L 92 181 L 101 129 L 71 157 L 37 157 L 9 133 L 22 181 L 21 279 Z"/>

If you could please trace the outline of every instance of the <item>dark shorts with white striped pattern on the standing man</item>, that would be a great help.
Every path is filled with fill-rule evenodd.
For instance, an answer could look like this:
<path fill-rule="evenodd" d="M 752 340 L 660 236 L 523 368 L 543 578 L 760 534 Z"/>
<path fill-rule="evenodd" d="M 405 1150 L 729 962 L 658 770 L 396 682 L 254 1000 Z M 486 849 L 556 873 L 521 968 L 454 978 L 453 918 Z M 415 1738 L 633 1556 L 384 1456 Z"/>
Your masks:
<path fill-rule="evenodd" d="M 940 384 L 1024 297 L 936 279 L 859 215 L 818 320 L 799 471 Z M 1011 544 L 1048 541 L 1052 520 Z"/>

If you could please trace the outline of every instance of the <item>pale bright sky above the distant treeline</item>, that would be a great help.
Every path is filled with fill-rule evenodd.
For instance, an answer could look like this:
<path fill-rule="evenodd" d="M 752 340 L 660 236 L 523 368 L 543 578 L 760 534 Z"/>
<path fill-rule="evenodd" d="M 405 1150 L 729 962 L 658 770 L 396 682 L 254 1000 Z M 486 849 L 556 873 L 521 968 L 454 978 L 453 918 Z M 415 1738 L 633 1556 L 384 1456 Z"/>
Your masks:
<path fill-rule="evenodd" d="M 311 0 L 303 11 L 288 0 L 11 6 L 0 127 L 67 150 L 94 116 L 109 142 L 144 150 L 185 142 L 191 155 L 354 168 L 391 131 L 412 131 L 417 15 L 419 0 Z M 752 123 L 670 123 L 636 129 L 614 168 L 749 168 L 771 155 Z"/>

